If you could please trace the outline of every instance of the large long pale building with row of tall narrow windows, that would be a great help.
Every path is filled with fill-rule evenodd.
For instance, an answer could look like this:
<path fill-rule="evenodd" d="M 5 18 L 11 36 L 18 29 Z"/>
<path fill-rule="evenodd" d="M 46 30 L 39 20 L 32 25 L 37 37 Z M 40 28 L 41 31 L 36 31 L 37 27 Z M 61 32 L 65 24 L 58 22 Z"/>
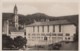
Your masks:
<path fill-rule="evenodd" d="M 34 22 L 26 26 L 27 45 L 73 41 L 76 26 L 68 20 Z"/>

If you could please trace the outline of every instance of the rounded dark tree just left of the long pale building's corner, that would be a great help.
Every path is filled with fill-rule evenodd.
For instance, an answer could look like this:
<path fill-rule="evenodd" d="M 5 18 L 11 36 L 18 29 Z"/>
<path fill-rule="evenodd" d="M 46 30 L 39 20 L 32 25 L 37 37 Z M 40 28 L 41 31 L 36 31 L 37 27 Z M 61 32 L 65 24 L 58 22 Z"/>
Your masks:
<path fill-rule="evenodd" d="M 27 39 L 23 38 L 22 36 L 17 36 L 16 38 L 14 38 L 14 46 L 16 48 L 23 48 L 23 46 L 25 46 L 27 43 Z"/>

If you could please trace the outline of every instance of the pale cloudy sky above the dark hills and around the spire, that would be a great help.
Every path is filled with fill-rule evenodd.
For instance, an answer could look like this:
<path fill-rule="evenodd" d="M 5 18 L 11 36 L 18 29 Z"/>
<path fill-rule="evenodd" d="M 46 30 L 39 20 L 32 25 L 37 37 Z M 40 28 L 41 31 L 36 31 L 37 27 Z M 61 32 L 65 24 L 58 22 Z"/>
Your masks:
<path fill-rule="evenodd" d="M 78 3 L 3 3 L 3 12 L 13 13 L 14 5 L 18 13 L 23 15 L 45 13 L 49 16 L 66 16 L 78 14 Z"/>

